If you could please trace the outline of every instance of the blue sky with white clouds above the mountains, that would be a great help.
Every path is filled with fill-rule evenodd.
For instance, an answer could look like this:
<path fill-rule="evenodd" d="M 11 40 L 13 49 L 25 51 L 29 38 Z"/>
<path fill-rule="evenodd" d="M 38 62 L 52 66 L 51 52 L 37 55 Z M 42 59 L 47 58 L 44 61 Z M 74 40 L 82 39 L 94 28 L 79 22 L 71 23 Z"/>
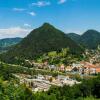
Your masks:
<path fill-rule="evenodd" d="M 25 37 L 45 22 L 65 33 L 100 31 L 100 0 L 0 0 L 0 38 Z"/>

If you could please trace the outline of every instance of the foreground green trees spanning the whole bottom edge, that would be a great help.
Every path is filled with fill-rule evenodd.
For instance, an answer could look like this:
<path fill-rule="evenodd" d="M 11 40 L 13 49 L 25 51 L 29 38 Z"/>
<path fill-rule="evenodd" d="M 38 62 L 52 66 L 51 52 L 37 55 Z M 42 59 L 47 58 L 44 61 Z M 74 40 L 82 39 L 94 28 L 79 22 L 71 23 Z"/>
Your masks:
<path fill-rule="evenodd" d="M 83 80 L 82 84 L 52 86 L 47 92 L 33 93 L 25 84 L 0 79 L 0 100 L 100 100 L 100 76 Z"/>

